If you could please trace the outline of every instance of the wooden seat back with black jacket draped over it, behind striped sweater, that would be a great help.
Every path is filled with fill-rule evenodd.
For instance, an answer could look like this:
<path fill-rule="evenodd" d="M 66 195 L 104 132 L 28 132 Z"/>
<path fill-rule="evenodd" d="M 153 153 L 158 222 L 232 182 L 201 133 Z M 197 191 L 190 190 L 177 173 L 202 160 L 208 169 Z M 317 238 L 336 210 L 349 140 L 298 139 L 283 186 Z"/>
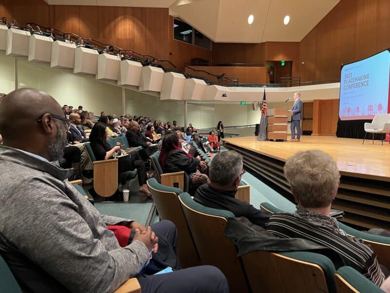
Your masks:
<path fill-rule="evenodd" d="M 306 251 L 251 251 L 241 256 L 252 292 L 335 293 L 331 260 Z"/>

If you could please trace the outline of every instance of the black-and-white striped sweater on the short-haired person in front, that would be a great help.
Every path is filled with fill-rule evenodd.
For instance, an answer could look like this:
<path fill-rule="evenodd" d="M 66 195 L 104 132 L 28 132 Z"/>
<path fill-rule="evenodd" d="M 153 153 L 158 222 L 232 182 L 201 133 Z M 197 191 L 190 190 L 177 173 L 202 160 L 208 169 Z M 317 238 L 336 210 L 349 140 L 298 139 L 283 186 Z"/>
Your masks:
<path fill-rule="evenodd" d="M 283 238 L 303 238 L 336 251 L 346 266 L 350 266 L 380 286 L 385 280 L 375 253 L 363 240 L 351 237 L 339 229 L 330 216 L 298 208 L 293 214 L 279 213 L 266 224 L 268 231 Z"/>

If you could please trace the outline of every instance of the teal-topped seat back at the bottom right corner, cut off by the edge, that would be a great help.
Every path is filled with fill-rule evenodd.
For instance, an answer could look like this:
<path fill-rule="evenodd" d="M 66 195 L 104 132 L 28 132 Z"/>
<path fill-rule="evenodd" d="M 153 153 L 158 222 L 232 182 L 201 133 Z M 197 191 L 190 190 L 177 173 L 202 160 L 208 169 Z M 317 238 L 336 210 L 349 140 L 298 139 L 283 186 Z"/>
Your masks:
<path fill-rule="evenodd" d="M 351 267 L 341 267 L 334 274 L 334 282 L 338 293 L 383 293 L 378 286 L 372 283 Z"/>

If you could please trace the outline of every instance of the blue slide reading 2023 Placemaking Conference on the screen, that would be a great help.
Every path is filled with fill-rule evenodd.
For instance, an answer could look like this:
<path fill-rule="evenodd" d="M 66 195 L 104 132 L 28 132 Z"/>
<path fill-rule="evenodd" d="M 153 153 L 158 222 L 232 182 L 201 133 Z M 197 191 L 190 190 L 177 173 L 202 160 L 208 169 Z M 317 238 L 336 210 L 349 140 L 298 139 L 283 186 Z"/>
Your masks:
<path fill-rule="evenodd" d="M 380 52 L 341 69 L 341 120 L 372 119 L 389 113 L 390 52 Z"/>

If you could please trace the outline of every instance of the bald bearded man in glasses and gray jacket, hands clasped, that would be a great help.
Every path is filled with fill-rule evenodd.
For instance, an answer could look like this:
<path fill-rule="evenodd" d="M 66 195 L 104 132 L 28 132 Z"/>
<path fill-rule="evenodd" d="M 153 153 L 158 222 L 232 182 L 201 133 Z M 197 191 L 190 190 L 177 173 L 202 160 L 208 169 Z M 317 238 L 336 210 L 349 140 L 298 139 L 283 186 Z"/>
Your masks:
<path fill-rule="evenodd" d="M 100 215 L 67 180 L 72 170 L 53 164 L 63 155 L 66 123 L 56 100 L 37 89 L 15 90 L 0 104 L 0 251 L 21 290 L 114 292 L 137 276 L 143 293 L 228 292 L 214 267 L 146 274 L 162 263 L 156 235 L 175 250 L 176 227 Z M 131 243 L 120 247 L 109 225 L 135 231 Z"/>

